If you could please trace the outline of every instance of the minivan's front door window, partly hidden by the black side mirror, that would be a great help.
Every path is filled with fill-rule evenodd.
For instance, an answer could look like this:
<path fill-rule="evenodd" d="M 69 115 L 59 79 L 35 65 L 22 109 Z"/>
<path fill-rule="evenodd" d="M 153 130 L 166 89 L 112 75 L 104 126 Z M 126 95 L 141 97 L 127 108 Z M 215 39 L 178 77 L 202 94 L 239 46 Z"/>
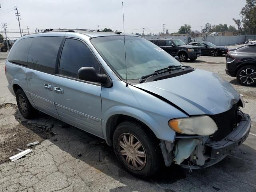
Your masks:
<path fill-rule="evenodd" d="M 77 78 L 81 67 L 94 67 L 97 73 L 100 70 L 94 55 L 83 42 L 66 39 L 60 57 L 59 74 Z"/>

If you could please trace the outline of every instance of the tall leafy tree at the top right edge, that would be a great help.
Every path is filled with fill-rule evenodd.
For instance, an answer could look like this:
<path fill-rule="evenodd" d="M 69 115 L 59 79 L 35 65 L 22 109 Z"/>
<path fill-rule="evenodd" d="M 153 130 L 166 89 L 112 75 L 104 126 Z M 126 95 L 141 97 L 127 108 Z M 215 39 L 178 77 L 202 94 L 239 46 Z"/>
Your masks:
<path fill-rule="evenodd" d="M 254 34 L 256 32 L 256 0 L 246 0 L 240 15 L 242 16 L 244 33 Z"/>

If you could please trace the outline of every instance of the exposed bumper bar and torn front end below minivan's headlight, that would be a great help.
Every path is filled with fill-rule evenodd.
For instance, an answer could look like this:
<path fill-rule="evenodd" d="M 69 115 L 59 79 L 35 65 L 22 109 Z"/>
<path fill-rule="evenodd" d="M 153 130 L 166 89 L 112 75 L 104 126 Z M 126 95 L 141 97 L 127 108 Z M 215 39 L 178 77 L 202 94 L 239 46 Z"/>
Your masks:
<path fill-rule="evenodd" d="M 248 137 L 250 116 L 237 110 L 237 117 L 236 126 L 222 138 L 220 132 L 216 132 L 211 136 L 176 134 L 173 143 L 161 140 L 165 165 L 175 163 L 186 168 L 204 168 L 218 163 Z"/>

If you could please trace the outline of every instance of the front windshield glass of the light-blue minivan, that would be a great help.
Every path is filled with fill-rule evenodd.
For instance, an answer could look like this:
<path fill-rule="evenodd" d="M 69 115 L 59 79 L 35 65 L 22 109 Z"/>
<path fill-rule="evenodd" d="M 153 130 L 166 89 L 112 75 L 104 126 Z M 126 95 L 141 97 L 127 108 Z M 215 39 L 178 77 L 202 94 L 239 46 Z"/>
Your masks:
<path fill-rule="evenodd" d="M 104 36 L 91 39 L 92 44 L 116 74 L 127 80 L 138 80 L 141 76 L 154 73 L 170 65 L 180 66 L 180 62 L 152 42 L 135 36 Z"/>

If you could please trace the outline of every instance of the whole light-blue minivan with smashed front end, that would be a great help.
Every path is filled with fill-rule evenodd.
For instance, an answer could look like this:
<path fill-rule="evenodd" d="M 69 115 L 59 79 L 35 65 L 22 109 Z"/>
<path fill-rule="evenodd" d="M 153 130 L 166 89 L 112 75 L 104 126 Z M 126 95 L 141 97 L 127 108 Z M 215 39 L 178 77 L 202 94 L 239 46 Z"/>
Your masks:
<path fill-rule="evenodd" d="M 247 138 L 244 102 L 217 74 L 184 66 L 148 40 L 60 30 L 18 39 L 6 61 L 20 113 L 38 110 L 106 140 L 128 172 L 204 168 Z"/>

